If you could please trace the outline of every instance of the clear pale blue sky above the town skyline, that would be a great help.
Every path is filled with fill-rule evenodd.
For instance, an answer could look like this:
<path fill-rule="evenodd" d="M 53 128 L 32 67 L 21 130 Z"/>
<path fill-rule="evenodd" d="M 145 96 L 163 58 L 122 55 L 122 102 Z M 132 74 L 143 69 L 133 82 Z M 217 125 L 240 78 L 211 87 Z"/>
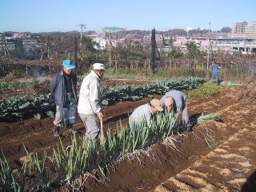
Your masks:
<path fill-rule="evenodd" d="M 0 32 L 99 32 L 193 28 L 221 30 L 234 22 L 256 22 L 256 0 L 0 0 Z M 209 25 L 210 22 L 210 25 Z"/>

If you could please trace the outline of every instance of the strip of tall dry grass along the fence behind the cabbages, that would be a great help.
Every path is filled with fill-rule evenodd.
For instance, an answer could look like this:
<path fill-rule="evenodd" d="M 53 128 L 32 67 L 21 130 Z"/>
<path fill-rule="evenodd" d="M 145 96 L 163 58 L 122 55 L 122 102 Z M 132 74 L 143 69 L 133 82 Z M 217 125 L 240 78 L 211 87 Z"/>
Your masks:
<path fill-rule="evenodd" d="M 219 70 L 219 79 L 223 81 L 241 82 L 241 80 L 250 77 L 255 71 L 245 67 L 223 67 Z M 159 67 L 156 74 L 153 74 L 149 68 L 133 68 L 129 67 L 108 69 L 104 76 L 108 79 L 125 78 L 131 80 L 160 80 L 164 78 L 210 78 L 211 70 L 198 66 L 183 67 Z"/>

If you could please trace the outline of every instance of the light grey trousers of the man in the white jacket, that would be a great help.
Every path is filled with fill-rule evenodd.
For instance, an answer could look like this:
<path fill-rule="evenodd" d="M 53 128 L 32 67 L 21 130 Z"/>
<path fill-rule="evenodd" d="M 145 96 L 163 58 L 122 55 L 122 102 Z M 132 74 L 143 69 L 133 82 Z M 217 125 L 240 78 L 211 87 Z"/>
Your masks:
<path fill-rule="evenodd" d="M 97 138 L 99 133 L 99 123 L 97 114 L 79 114 L 82 119 L 83 125 L 86 128 L 86 136 L 93 140 Z"/>

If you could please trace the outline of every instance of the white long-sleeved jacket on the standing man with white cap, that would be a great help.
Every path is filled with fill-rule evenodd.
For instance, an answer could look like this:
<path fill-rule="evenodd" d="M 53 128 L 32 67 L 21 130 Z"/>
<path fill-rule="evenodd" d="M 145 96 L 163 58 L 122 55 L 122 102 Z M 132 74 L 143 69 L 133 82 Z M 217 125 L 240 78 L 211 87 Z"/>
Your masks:
<path fill-rule="evenodd" d="M 99 82 L 100 78 L 94 70 L 82 80 L 78 100 L 79 114 L 98 114 L 102 112 L 102 94 Z"/>

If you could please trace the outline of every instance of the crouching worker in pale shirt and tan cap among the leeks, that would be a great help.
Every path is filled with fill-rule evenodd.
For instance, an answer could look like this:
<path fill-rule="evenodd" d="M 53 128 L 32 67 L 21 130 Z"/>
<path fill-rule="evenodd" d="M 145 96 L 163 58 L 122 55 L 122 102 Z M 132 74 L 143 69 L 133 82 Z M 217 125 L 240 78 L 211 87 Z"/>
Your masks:
<path fill-rule="evenodd" d="M 129 127 L 130 129 L 132 127 L 141 129 L 143 126 L 143 123 L 146 123 L 147 127 L 150 127 L 151 125 L 151 119 L 153 118 L 154 114 L 157 114 L 158 111 L 162 111 L 163 108 L 160 105 L 160 101 L 158 99 L 153 99 L 150 101 L 150 103 L 146 103 L 142 106 L 138 106 L 134 110 L 132 114 L 130 114 L 129 117 Z"/>

